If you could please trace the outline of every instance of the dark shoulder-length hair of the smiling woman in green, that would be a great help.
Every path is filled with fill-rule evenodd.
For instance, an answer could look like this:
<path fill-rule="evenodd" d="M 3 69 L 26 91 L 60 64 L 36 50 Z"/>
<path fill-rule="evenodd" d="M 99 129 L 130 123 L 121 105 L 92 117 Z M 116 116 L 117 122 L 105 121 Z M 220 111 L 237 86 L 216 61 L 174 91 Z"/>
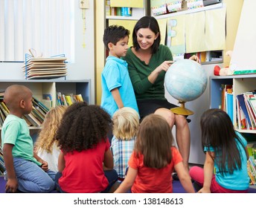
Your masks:
<path fill-rule="evenodd" d="M 135 48 L 135 51 L 138 51 L 138 49 L 140 49 L 140 45 L 138 45 L 138 40 L 137 40 L 137 32 L 141 28 L 149 28 L 150 30 L 153 31 L 153 33 L 155 34 L 159 33 L 159 36 L 154 41 L 151 48 L 151 52 L 156 53 L 156 51 L 159 49 L 159 45 L 161 42 L 159 23 L 153 16 L 143 16 L 141 17 L 141 19 L 138 20 L 132 32 L 132 44 L 133 44 L 133 47 Z"/>

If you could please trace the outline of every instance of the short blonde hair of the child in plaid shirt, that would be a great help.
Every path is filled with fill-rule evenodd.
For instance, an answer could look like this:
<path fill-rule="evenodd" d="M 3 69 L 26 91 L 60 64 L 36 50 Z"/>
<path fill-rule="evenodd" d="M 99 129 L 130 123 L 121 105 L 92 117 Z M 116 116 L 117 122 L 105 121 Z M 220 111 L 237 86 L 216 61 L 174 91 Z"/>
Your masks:
<path fill-rule="evenodd" d="M 120 140 L 131 140 L 138 132 L 139 115 L 133 108 L 124 107 L 115 112 L 113 135 Z"/>

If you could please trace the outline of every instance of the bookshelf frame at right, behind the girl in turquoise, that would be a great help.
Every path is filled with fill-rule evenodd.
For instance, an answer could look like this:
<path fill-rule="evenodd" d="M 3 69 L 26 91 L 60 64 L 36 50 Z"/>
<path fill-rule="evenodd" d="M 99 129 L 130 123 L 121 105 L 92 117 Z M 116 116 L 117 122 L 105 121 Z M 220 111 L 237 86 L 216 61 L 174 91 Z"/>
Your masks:
<path fill-rule="evenodd" d="M 236 97 L 237 94 L 243 94 L 246 91 L 253 91 L 256 89 L 256 74 L 251 75 L 234 75 L 234 76 L 220 76 L 210 77 L 210 108 L 219 108 L 221 104 L 221 85 L 233 85 L 233 109 L 235 120 L 236 111 Z M 236 129 L 246 137 L 256 138 L 256 130 L 241 130 Z"/>

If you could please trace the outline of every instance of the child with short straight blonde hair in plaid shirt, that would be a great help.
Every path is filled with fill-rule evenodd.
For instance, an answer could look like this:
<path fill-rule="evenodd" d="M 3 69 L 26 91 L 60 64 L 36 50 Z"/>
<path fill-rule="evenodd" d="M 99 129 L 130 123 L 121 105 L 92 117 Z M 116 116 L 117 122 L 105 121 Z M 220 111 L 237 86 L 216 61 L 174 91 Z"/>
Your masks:
<path fill-rule="evenodd" d="M 139 116 L 133 108 L 124 107 L 115 111 L 112 117 L 113 137 L 112 153 L 114 157 L 114 169 L 118 172 L 118 178 L 122 181 L 128 166 L 128 160 L 132 154 L 135 136 L 138 132 Z"/>

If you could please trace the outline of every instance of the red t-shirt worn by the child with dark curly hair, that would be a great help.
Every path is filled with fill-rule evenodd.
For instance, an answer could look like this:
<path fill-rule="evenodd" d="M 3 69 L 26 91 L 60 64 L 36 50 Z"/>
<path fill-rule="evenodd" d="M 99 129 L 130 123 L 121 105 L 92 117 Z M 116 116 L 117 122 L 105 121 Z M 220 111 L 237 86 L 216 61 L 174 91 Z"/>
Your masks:
<path fill-rule="evenodd" d="M 60 188 L 69 193 L 94 193 L 106 189 L 109 182 L 103 172 L 103 160 L 109 146 L 109 140 L 102 140 L 93 149 L 65 154 Z"/>

